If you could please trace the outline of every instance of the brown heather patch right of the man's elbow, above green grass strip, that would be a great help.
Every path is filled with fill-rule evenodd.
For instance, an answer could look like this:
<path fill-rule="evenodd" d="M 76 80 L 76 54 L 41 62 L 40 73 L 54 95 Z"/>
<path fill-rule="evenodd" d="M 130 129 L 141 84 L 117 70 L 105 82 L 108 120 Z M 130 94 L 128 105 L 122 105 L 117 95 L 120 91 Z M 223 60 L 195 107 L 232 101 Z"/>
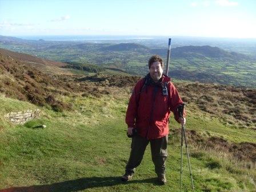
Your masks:
<path fill-rule="evenodd" d="M 209 83 L 175 83 L 186 103 L 230 124 L 255 126 L 256 90 Z"/>

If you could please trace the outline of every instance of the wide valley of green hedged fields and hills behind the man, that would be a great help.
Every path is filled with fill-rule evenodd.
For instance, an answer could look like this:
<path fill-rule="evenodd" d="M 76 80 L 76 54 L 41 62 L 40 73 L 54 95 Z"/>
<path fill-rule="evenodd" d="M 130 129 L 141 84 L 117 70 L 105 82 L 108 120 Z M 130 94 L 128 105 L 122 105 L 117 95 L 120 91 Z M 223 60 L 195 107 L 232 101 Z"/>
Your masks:
<path fill-rule="evenodd" d="M 179 38 L 177 39 L 179 43 L 176 43 L 175 39 L 173 41 L 174 48 L 171 49 L 169 65 L 170 77 L 255 88 L 254 51 L 244 54 L 208 45 L 184 46 L 185 43 L 182 43 Z M 191 43 L 195 44 L 195 42 Z M 214 45 L 207 41 L 205 43 Z M 197 44 L 202 45 L 202 42 Z M 221 43 L 218 45 L 221 46 Z M 223 45 L 229 44 L 226 42 Z M 239 45 L 241 44 L 238 43 L 237 46 Z M 139 76 L 147 73 L 147 59 L 152 54 L 159 54 L 164 59 L 167 54 L 163 39 L 159 39 L 159 42 L 153 39 L 151 41 L 130 40 L 126 43 L 122 43 L 121 40 L 105 40 L 95 43 L 95 41 L 35 41 L 11 38 L 7 41 L 0 38 L 0 47 L 58 62 L 115 68 Z M 253 44 L 250 44 L 250 47 L 253 47 Z"/>

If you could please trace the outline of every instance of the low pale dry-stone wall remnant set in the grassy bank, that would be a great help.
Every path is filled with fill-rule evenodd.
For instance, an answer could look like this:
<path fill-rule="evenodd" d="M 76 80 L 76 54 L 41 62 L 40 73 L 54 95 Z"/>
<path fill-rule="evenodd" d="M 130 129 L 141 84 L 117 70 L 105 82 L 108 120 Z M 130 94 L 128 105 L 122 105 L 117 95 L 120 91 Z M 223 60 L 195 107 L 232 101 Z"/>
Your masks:
<path fill-rule="evenodd" d="M 10 112 L 5 115 L 5 118 L 9 119 L 9 121 L 13 123 L 25 123 L 30 119 L 38 118 L 40 114 L 40 110 L 25 110 L 18 112 Z"/>

